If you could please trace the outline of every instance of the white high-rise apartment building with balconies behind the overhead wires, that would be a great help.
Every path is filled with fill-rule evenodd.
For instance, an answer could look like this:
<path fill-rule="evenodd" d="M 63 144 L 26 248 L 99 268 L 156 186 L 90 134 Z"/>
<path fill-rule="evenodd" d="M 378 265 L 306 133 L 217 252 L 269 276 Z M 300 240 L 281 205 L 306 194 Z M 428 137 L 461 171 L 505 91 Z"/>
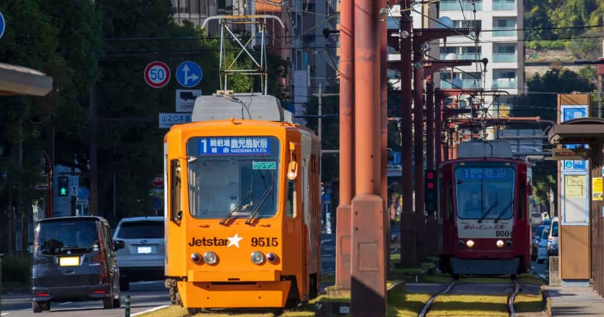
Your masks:
<path fill-rule="evenodd" d="M 474 10 L 475 13 L 474 13 Z M 469 37 L 452 36 L 440 41 L 440 59 L 455 53 L 458 59 L 483 59 L 489 62 L 460 66 L 442 72 L 440 87 L 452 88 L 452 78 L 461 79 L 462 88 L 500 89 L 517 95 L 524 88 L 524 45 L 522 41 L 522 1 L 519 0 L 443 0 L 439 16 L 451 18 L 454 27 L 480 27 L 478 45 Z M 471 34 L 470 37 L 474 37 Z M 486 98 L 489 102 L 488 98 Z M 463 104 L 462 104 L 463 106 Z"/>

